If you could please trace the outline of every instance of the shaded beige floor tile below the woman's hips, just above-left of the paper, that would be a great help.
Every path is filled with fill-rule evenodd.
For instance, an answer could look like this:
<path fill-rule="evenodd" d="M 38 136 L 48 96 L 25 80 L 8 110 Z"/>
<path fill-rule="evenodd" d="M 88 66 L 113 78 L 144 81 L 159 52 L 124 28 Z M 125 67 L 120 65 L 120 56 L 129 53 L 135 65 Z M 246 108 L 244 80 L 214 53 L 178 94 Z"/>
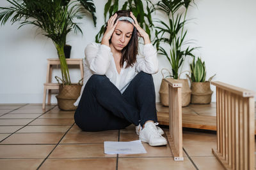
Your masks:
<path fill-rule="evenodd" d="M 117 141 L 118 131 L 67 133 L 60 143 L 103 143 Z"/>

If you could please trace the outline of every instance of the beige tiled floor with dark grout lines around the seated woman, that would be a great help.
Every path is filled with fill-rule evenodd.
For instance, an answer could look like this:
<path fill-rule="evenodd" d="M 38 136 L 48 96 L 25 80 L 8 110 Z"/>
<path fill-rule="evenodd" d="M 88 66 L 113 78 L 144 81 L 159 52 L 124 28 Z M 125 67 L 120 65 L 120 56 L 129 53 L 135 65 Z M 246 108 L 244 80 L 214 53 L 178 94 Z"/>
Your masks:
<path fill-rule="evenodd" d="M 83 132 L 74 111 L 41 104 L 0 104 L 0 169 L 223 169 L 212 155 L 215 132 L 183 131 L 184 161 L 169 146 L 143 146 L 145 154 L 106 155 L 103 141 L 138 139 L 131 125 L 120 131 Z M 164 131 L 168 129 L 164 128 Z"/>

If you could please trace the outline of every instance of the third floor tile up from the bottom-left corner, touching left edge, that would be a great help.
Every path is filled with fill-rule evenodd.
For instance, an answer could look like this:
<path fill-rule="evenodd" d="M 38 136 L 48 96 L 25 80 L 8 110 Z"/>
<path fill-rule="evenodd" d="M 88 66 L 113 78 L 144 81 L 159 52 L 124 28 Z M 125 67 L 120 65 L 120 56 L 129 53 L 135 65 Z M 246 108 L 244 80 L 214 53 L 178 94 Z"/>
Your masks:
<path fill-rule="evenodd" d="M 64 133 L 24 133 L 12 134 L 1 144 L 53 144 L 58 143 Z"/>

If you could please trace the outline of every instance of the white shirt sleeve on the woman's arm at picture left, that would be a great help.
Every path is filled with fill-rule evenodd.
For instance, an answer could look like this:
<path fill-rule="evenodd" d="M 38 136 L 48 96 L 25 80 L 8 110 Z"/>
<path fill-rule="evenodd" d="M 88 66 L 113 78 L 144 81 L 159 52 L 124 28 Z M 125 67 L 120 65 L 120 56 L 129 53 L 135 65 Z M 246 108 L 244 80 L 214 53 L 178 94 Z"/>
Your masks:
<path fill-rule="evenodd" d="M 106 45 L 90 43 L 84 50 L 85 62 L 93 74 L 104 75 L 111 60 L 111 49 Z"/>

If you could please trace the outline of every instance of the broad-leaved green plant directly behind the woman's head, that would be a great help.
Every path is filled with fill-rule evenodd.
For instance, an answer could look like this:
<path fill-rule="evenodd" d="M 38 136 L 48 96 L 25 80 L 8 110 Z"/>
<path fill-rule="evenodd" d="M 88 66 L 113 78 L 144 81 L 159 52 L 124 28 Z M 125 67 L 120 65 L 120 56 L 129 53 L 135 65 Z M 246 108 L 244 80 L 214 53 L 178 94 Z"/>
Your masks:
<path fill-rule="evenodd" d="M 105 7 L 104 7 L 105 22 L 106 22 L 107 13 L 109 14 L 109 16 L 112 16 L 118 10 L 130 10 L 132 11 L 133 15 L 137 18 L 140 26 L 145 29 L 145 31 L 148 33 L 150 37 L 150 29 L 152 30 L 154 27 L 151 13 L 155 11 L 155 8 L 154 8 L 154 4 L 152 4 L 150 0 L 144 0 L 144 1 L 147 3 L 147 5 L 145 6 L 147 9 L 147 13 L 146 11 L 144 11 L 142 0 L 125 1 L 125 3 L 122 4 L 121 9 L 118 9 L 118 5 L 119 5 L 118 0 L 108 0 L 108 2 L 105 4 Z M 102 35 L 104 33 L 104 28 L 106 27 L 106 25 L 107 23 L 102 25 L 99 33 L 95 36 L 95 41 L 97 43 L 100 42 L 100 38 L 102 38 Z"/>

